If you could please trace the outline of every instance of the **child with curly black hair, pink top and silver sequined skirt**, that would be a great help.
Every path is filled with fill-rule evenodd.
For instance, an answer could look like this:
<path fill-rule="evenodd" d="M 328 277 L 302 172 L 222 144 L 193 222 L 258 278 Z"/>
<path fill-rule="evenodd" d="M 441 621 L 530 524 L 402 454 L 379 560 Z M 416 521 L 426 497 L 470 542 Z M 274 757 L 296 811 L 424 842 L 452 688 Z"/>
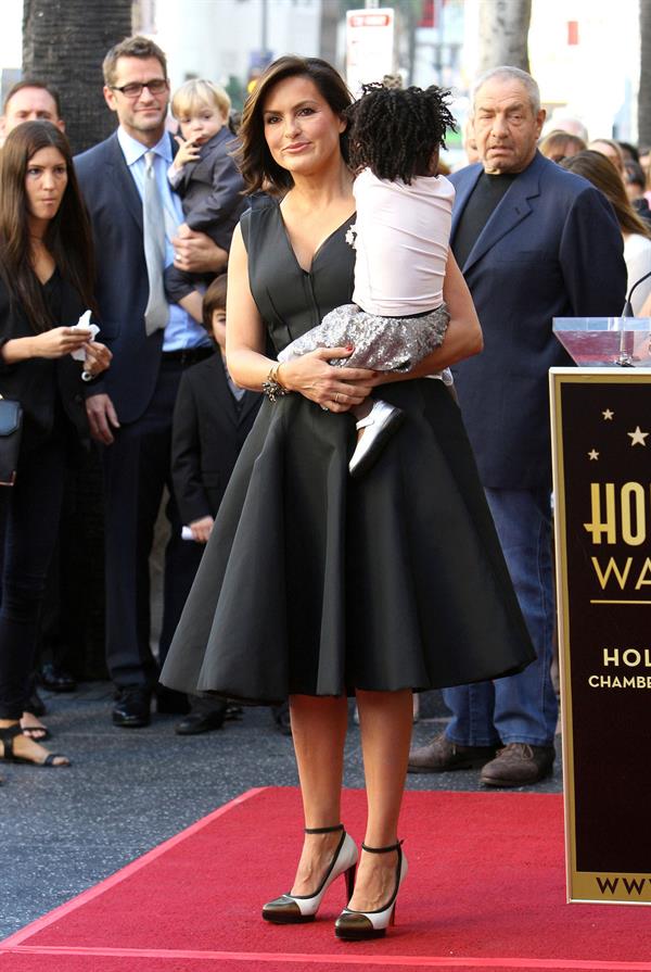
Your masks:
<path fill-rule="evenodd" d="M 443 343 L 449 324 L 443 280 L 455 189 L 436 174 L 438 150 L 455 128 L 449 92 L 379 84 L 362 90 L 346 112 L 356 174 L 356 224 L 346 235 L 356 250 L 354 303 L 335 307 L 292 341 L 280 353 L 280 365 L 317 348 L 348 346 L 349 357 L 330 364 L 408 371 Z M 430 377 L 452 381 L 447 369 Z M 361 476 L 404 413 L 380 397 L 350 412 L 358 419 L 358 439 L 348 467 L 352 476 Z"/>

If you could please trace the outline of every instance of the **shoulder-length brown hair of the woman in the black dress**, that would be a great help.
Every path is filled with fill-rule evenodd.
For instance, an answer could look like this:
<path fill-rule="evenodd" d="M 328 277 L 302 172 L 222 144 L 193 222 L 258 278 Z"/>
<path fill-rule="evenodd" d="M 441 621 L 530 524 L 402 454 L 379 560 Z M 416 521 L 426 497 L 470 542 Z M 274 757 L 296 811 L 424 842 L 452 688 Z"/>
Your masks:
<path fill-rule="evenodd" d="M 260 76 L 248 96 L 239 130 L 240 149 L 235 155 L 246 184 L 246 193 L 265 189 L 283 195 L 294 185 L 291 174 L 273 161 L 265 139 L 264 105 L 272 88 L 289 77 L 307 77 L 318 88 L 335 115 L 343 116 L 353 101 L 342 76 L 320 58 L 298 58 L 286 54 L 273 61 Z M 348 162 L 347 132 L 340 136 L 342 155 Z"/>

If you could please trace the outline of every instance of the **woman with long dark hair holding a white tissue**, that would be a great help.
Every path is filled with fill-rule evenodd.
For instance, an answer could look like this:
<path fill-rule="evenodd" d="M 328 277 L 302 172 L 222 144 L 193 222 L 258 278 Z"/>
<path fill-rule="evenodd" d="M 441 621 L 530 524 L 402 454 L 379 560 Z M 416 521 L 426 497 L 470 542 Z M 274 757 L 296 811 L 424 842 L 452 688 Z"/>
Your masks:
<path fill-rule="evenodd" d="M 17 400 L 24 416 L 2 537 L 0 758 L 36 766 L 69 762 L 24 735 L 20 719 L 66 453 L 73 434 L 87 435 L 81 376 L 92 379 L 111 359 L 89 329 L 74 329 L 86 310 L 94 310 L 92 252 L 65 136 L 49 122 L 18 125 L 0 153 L 0 394 Z M 84 362 L 71 357 L 79 351 Z"/>

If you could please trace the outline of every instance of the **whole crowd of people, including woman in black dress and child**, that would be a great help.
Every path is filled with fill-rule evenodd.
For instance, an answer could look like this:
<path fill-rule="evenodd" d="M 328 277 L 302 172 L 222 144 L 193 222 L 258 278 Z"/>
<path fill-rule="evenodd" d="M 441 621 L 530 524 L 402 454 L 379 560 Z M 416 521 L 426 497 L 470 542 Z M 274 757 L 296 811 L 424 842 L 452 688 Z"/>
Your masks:
<path fill-rule="evenodd" d="M 30 698 L 64 471 L 92 439 L 113 723 L 146 725 L 153 698 L 184 734 L 242 703 L 291 718 L 305 843 L 263 917 L 312 920 L 346 875 L 336 935 L 378 937 L 407 873 L 406 772 L 520 786 L 552 770 L 547 373 L 570 361 L 551 320 L 620 315 L 651 268 L 649 157 L 576 123 L 541 139 L 538 87 L 512 67 L 477 79 L 470 164 L 449 178 L 434 87 L 354 102 L 326 62 L 285 56 L 238 131 L 226 92 L 188 81 L 175 136 L 153 41 L 116 45 L 103 73 L 116 130 L 75 160 L 49 86 L 21 81 L 1 121 L 0 393 L 23 428 L 2 497 L 0 758 L 71 761 Z M 640 286 L 635 312 L 650 301 Z M 431 689 L 451 719 L 410 750 L 412 694 Z M 350 695 L 361 854 L 340 815 Z"/>

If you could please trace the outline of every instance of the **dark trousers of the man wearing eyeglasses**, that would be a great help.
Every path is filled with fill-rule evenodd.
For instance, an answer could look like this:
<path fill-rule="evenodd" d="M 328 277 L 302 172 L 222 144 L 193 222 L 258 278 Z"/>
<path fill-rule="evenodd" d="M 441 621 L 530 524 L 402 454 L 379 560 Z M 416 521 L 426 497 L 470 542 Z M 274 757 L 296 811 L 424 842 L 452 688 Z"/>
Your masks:
<path fill-rule="evenodd" d="M 150 647 L 150 571 L 163 489 L 170 537 L 165 551 L 159 656 L 171 636 L 196 571 L 196 544 L 181 540 L 170 476 L 171 416 L 183 364 L 163 358 L 150 405 L 115 432 L 104 450 L 106 515 L 106 665 L 115 684 L 153 689 L 158 666 Z"/>

